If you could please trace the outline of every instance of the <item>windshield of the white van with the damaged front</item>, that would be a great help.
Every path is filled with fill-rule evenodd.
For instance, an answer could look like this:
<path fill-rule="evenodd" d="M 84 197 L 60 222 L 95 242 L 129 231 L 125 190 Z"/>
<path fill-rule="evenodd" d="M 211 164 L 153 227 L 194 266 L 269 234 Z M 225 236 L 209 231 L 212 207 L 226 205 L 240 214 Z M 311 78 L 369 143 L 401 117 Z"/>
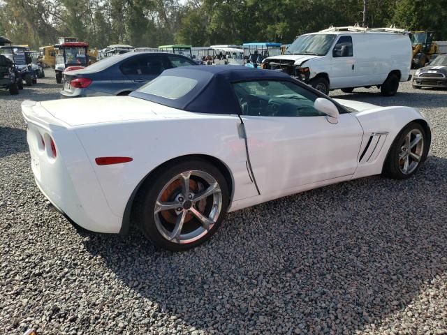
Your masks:
<path fill-rule="evenodd" d="M 285 54 L 314 54 L 324 56 L 328 53 L 334 40 L 335 35 L 302 35 L 287 48 Z"/>

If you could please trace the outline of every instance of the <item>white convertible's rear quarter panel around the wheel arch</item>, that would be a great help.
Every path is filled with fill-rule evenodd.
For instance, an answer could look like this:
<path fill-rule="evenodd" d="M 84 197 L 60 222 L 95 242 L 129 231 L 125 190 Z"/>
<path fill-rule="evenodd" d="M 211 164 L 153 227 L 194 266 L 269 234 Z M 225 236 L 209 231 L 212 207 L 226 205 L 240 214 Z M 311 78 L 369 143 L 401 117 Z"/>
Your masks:
<path fill-rule="evenodd" d="M 149 107 L 149 106 L 148 106 Z M 191 113 L 193 114 L 193 113 Z M 110 209 L 122 216 L 135 187 L 162 163 L 203 154 L 222 161 L 233 177 L 233 199 L 257 195 L 247 172 L 245 143 L 236 116 L 193 117 L 110 123 L 78 128 L 76 133 L 94 167 Z M 98 166 L 95 158 L 129 156 L 130 163 Z"/>

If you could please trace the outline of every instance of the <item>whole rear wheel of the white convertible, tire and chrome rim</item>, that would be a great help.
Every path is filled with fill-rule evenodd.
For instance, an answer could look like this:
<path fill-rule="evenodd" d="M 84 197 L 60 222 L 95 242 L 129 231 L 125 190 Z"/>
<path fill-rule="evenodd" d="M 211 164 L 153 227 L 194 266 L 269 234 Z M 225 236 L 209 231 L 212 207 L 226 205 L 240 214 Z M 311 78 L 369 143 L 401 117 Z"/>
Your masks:
<path fill-rule="evenodd" d="M 228 208 L 222 173 L 202 159 L 180 161 L 149 176 L 135 199 L 135 220 L 156 246 L 184 251 L 209 239 Z"/>

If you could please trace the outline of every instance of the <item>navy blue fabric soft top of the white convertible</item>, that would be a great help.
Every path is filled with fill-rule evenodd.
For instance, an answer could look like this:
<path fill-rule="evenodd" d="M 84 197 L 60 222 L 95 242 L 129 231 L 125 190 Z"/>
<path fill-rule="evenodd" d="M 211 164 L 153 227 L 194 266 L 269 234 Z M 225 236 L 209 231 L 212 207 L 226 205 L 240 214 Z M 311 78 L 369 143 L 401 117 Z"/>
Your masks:
<path fill-rule="evenodd" d="M 186 77 L 197 81 L 196 86 L 186 95 L 178 99 L 163 98 L 147 94 L 141 89 L 133 91 L 130 95 L 147 101 L 187 110 L 208 114 L 238 114 L 239 103 L 235 97 L 232 83 L 254 80 L 283 80 L 295 82 L 286 73 L 274 70 L 262 70 L 245 66 L 183 66 L 163 71 L 161 77 Z M 151 83 L 156 84 L 157 79 Z M 173 78 L 173 86 L 175 86 Z M 149 84 L 151 84 L 149 83 Z"/>

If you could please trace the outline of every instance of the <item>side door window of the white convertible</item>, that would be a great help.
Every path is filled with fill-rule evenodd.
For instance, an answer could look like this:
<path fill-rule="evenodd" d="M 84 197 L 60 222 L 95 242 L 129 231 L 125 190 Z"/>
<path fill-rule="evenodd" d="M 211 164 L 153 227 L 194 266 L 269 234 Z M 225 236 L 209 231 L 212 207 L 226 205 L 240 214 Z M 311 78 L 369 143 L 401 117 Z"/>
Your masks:
<path fill-rule="evenodd" d="M 258 80 L 233 84 L 242 114 L 262 117 L 316 117 L 318 96 L 293 82 Z"/>

